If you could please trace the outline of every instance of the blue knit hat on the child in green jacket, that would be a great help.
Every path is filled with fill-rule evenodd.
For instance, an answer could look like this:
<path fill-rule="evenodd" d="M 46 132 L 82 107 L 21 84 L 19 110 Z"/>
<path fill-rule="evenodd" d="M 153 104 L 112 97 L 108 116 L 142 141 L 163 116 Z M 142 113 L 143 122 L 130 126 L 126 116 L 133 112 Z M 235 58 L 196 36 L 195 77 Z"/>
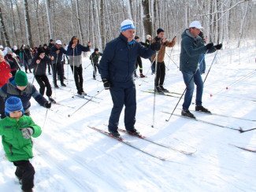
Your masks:
<path fill-rule="evenodd" d="M 6 100 L 6 109 L 5 109 L 6 116 L 9 116 L 9 113 L 13 111 L 21 111 L 22 116 L 24 115 L 24 109 L 23 109 L 23 105 L 20 98 L 12 96 Z"/>

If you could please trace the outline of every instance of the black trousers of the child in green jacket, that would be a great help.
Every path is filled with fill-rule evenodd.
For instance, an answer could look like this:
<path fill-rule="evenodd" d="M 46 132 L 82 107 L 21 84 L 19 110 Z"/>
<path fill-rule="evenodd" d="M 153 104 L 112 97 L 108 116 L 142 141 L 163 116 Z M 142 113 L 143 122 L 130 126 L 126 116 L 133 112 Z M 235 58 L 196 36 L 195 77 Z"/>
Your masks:
<path fill-rule="evenodd" d="M 35 169 L 29 161 L 13 161 L 17 167 L 15 175 L 21 180 L 22 190 L 32 190 L 34 186 Z"/>

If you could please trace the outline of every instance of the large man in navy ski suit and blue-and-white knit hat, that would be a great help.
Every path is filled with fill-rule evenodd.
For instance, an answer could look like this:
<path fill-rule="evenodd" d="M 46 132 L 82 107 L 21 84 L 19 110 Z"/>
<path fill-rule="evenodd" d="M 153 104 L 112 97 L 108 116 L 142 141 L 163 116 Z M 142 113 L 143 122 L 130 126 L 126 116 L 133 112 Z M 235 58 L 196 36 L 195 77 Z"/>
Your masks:
<path fill-rule="evenodd" d="M 136 91 L 133 81 L 135 62 L 137 56 L 150 58 L 155 50 L 159 50 L 159 42 L 152 43 L 150 48 L 142 46 L 133 37 L 135 27 L 132 20 L 124 20 L 121 23 L 121 34 L 117 39 L 106 44 L 102 59 L 99 63 L 102 82 L 106 90 L 110 90 L 113 101 L 113 109 L 109 117 L 109 133 L 120 138 L 117 131 L 119 117 L 123 106 L 124 125 L 128 133 L 139 135 L 135 130 Z"/>

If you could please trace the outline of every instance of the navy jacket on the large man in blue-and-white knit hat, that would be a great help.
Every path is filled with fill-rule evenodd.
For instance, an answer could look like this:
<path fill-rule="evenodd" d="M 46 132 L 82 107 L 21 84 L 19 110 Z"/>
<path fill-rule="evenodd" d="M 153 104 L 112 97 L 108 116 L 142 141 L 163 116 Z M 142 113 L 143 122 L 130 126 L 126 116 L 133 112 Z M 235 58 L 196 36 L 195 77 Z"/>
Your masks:
<path fill-rule="evenodd" d="M 142 46 L 135 40 L 132 41 L 132 44 L 127 41 L 128 39 L 121 34 L 117 39 L 106 44 L 99 62 L 102 79 L 109 79 L 112 82 L 127 82 L 133 79 L 137 56 L 150 58 L 155 53 L 154 50 Z"/>

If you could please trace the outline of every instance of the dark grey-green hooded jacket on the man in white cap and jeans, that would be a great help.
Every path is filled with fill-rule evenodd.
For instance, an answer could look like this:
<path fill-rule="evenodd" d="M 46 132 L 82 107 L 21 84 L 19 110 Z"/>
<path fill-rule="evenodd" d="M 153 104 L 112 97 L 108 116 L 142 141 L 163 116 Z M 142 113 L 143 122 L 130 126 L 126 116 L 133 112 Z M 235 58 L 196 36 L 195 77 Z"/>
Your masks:
<path fill-rule="evenodd" d="M 202 38 L 199 36 L 193 37 L 189 29 L 182 33 L 181 38 L 180 71 L 195 72 L 198 68 L 200 54 L 206 53 L 206 46 L 204 46 Z M 208 51 L 208 54 L 214 51 L 213 47 Z"/>

